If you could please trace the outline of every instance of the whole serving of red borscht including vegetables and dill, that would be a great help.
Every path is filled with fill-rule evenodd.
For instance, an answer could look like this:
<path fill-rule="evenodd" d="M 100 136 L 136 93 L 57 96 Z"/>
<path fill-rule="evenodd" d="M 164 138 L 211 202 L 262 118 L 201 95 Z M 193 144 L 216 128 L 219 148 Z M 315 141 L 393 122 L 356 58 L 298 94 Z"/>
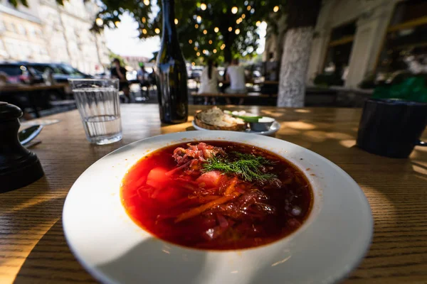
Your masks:
<path fill-rule="evenodd" d="M 313 203 L 305 175 L 283 157 L 226 141 L 160 148 L 125 175 L 122 203 L 157 238 L 194 249 L 248 249 L 288 236 Z"/>

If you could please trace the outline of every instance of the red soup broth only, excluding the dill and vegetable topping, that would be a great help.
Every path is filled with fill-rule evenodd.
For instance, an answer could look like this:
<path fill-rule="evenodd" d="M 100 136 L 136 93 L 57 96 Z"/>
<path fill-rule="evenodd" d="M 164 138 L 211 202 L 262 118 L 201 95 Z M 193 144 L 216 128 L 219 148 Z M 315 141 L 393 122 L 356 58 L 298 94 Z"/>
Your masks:
<path fill-rule="evenodd" d="M 270 165 L 269 173 L 275 174 L 280 180 L 280 188 L 263 188 L 262 185 L 243 182 L 236 192 L 239 196 L 234 200 L 214 205 L 194 217 L 177 222 L 177 218 L 184 212 L 218 200 L 221 194 L 206 195 L 209 189 L 204 187 L 209 186 L 197 180 L 200 175 L 186 175 L 180 170 L 174 171 L 172 176 L 165 175 L 165 172 L 178 168 L 173 157 L 174 150 L 178 147 L 186 148 L 189 143 L 160 148 L 140 159 L 122 180 L 122 204 L 127 214 L 142 229 L 164 241 L 195 249 L 248 249 L 288 236 L 307 219 L 313 202 L 312 188 L 295 165 L 255 146 L 226 141 L 203 142 L 220 147 L 225 153 L 251 153 L 272 160 L 274 163 Z M 191 145 L 198 143 L 200 141 L 192 142 Z M 235 177 L 222 174 L 220 178 L 225 188 Z M 256 192 L 268 197 L 267 200 L 246 203 L 249 206 L 232 212 L 233 208 L 237 208 L 234 204 L 242 204 L 243 198 L 249 199 L 245 192 L 245 188 L 247 190 L 249 187 L 256 187 Z M 201 191 L 203 195 L 197 196 Z M 221 208 L 225 207 L 229 210 L 224 214 Z M 262 210 L 271 212 L 271 208 L 274 214 L 263 214 Z"/>

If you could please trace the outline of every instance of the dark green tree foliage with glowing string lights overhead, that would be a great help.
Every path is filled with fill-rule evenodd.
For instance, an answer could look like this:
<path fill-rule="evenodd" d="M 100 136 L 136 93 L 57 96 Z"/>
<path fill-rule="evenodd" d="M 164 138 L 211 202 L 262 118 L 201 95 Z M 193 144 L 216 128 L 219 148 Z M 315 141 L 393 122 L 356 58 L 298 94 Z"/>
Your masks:
<path fill-rule="evenodd" d="M 16 5 L 26 0 L 9 0 Z M 59 4 L 63 0 L 56 0 Z M 66 1 L 66 0 L 65 0 Z M 129 13 L 138 23 L 139 38 L 162 35 L 162 0 L 100 0 L 100 11 L 93 31 L 105 26 L 115 28 L 120 16 Z M 262 21 L 274 24 L 284 12 L 280 0 L 175 0 L 176 29 L 184 57 L 196 60 L 203 56 L 231 60 L 255 55 L 257 28 Z M 277 8 L 275 8 L 277 6 Z M 233 7 L 238 11 L 233 13 Z M 160 9 L 159 9 L 160 8 Z"/>

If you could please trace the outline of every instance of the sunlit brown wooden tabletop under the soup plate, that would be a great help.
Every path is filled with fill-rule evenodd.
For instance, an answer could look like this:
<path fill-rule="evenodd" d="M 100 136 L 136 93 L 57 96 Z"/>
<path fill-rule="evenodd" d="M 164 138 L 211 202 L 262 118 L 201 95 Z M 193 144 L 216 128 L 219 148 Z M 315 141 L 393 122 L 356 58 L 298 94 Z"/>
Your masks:
<path fill-rule="evenodd" d="M 189 112 L 198 109 L 206 107 L 190 106 Z M 367 256 L 342 283 L 427 283 L 427 148 L 417 147 L 408 159 L 360 150 L 354 144 L 361 109 L 227 109 L 273 116 L 281 125 L 276 138 L 323 155 L 364 191 L 374 216 L 374 237 Z M 46 126 L 38 136 L 42 143 L 32 148 L 45 177 L 0 194 L 0 283 L 94 283 L 63 235 L 61 214 L 73 182 L 96 160 L 128 143 L 194 131 L 192 116 L 184 124 L 162 125 L 155 104 L 122 105 L 123 140 L 107 146 L 86 141 L 78 111 L 47 119 L 60 122 Z"/>

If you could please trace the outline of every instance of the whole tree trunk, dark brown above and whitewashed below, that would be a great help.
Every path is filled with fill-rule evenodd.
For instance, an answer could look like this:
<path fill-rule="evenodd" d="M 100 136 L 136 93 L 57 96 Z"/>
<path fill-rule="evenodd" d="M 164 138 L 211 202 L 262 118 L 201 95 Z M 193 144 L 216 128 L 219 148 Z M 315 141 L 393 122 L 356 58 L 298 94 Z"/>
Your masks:
<path fill-rule="evenodd" d="M 321 0 L 288 0 L 288 32 L 280 65 L 278 107 L 304 107 L 305 78 Z"/>

